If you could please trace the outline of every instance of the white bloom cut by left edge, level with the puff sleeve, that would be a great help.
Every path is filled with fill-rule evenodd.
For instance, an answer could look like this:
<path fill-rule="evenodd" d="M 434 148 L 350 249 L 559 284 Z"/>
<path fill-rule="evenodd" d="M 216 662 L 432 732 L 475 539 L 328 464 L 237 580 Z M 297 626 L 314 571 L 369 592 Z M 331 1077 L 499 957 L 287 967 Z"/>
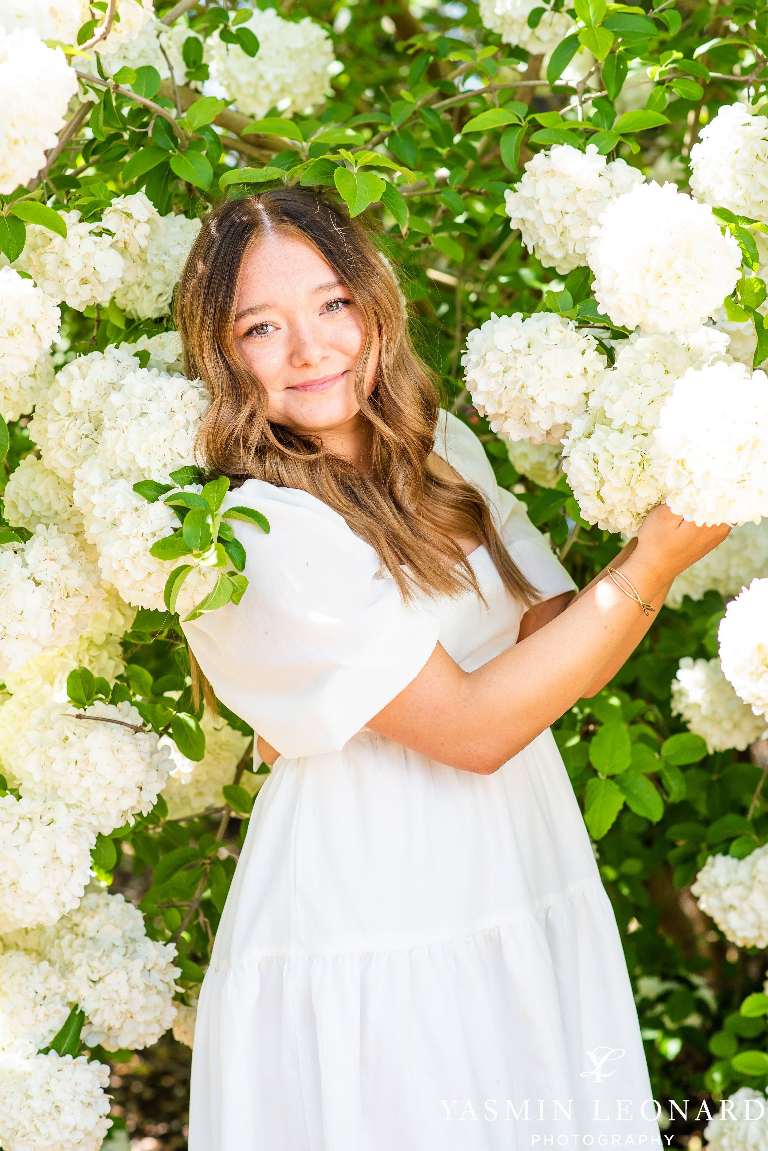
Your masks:
<path fill-rule="evenodd" d="M 0 673 L 85 631 L 105 593 L 74 535 L 39 524 L 26 543 L 0 544 Z"/>

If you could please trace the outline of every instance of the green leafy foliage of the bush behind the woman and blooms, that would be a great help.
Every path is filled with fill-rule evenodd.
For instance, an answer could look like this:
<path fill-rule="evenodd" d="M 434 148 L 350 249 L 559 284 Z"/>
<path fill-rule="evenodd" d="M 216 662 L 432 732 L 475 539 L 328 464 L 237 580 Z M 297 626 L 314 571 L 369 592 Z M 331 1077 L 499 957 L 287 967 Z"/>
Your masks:
<path fill-rule="evenodd" d="M 160 16 L 169 10 L 156 7 Z M 201 2 L 183 18 L 207 35 L 228 22 L 236 29 L 243 7 Z M 76 206 L 98 219 L 112 198 L 143 186 L 161 212 L 192 215 L 224 195 L 284 178 L 338 189 L 352 211 L 379 230 L 410 304 L 417 346 L 439 374 L 446 404 L 473 427 L 499 483 L 525 501 L 532 521 L 583 586 L 617 552 L 619 538 L 581 519 L 565 480 L 551 490 L 519 475 L 462 386 L 466 335 L 492 312 L 545 308 L 601 322 L 586 269 L 563 280 L 529 256 L 504 215 L 504 192 L 532 152 L 592 140 L 646 175 L 673 173 L 685 188 L 699 128 L 745 90 L 760 99 L 768 77 L 768 8 L 759 0 L 728 6 L 666 0 L 655 9 L 648 0 L 642 7 L 576 0 L 571 15 L 581 20 L 581 31 L 555 53 L 551 84 L 535 83 L 539 58 L 501 45 L 482 26 L 473 0 L 418 6 L 359 0 L 348 8 L 341 0 L 331 7 L 284 0 L 279 12 L 287 20 L 310 15 L 325 24 L 344 66 L 333 98 L 316 119 L 297 115 L 276 124 L 281 113 L 272 109 L 269 122 L 248 130 L 246 116 L 201 102 L 189 86 L 175 92 L 152 69 L 118 74 L 120 85 L 95 82 L 79 135 L 45 182 L 3 199 L 5 250 L 10 254 L 20 239 L 25 212 L 15 208 L 22 203 L 56 212 Z M 559 82 L 558 68 L 579 43 L 605 58 L 596 66 L 592 94 L 586 82 Z M 205 79 L 195 52 L 190 48 L 189 77 Z M 177 99 L 183 109 L 191 106 L 181 136 L 162 114 Z M 395 174 L 404 168 L 407 175 Z M 750 273 L 755 266 L 744 230 L 739 238 Z M 66 310 L 59 361 L 135 341 L 169 322 L 132 323 L 114 303 L 83 314 Z M 606 321 L 606 334 L 608 327 Z M 8 471 L 32 450 L 26 422 L 10 428 Z M 669 707 L 681 656 L 716 654 L 723 610 L 714 593 L 696 603 L 685 600 L 677 611 L 663 609 L 612 687 L 578 703 L 555 730 L 597 843 L 638 988 L 654 1095 L 667 1110 L 669 1099 L 682 1104 L 744 1083 L 768 1084 L 768 999 L 753 998 L 739 1009 L 762 990 L 765 955 L 724 940 L 689 891 L 708 854 L 743 857 L 768 839 L 766 773 L 746 753 L 707 755 Z M 156 730 L 175 721 L 177 731 L 186 723 L 193 744 L 199 712 L 189 689 L 176 702 L 164 694 L 184 688 L 189 672 L 176 622 L 140 611 L 124 646 L 129 666 L 121 692 L 139 702 Z M 99 685 L 80 689 L 87 698 Z M 255 769 L 268 771 L 258 762 Z M 141 899 L 155 938 L 177 939 L 187 992 L 202 977 L 235 869 L 232 855 L 220 860 L 217 848 L 222 840 L 237 847 L 247 829 L 249 800 L 237 780 L 226 798 L 231 806 L 223 813 L 181 822 L 166 818 L 161 800 L 152 815 L 99 837 L 97 846 L 95 862 L 103 877 L 114 876 L 113 890 Z M 689 1116 L 698 1111 L 691 1102 Z M 705 1121 L 676 1121 L 674 1142 L 700 1133 Z"/>

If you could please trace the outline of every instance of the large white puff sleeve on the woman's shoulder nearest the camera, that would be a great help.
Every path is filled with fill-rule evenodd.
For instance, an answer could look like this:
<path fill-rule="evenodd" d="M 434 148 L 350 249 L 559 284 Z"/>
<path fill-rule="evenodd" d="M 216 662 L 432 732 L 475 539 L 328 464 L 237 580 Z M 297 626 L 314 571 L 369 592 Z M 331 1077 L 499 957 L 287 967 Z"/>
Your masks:
<path fill-rule="evenodd" d="M 282 755 L 338 750 L 418 674 L 438 616 L 404 603 L 374 549 L 306 491 L 247 480 L 236 504 L 270 525 L 230 521 L 248 587 L 184 634 L 218 699 Z"/>

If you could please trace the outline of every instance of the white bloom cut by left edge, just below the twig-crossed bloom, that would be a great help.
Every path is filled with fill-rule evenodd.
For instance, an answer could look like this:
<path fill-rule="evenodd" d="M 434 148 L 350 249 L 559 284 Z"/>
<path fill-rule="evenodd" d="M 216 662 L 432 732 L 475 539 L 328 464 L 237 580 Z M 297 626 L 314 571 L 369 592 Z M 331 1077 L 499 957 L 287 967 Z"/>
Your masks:
<path fill-rule="evenodd" d="M 64 803 L 0 798 L 0 931 L 49 927 L 77 907 L 95 836 Z"/>

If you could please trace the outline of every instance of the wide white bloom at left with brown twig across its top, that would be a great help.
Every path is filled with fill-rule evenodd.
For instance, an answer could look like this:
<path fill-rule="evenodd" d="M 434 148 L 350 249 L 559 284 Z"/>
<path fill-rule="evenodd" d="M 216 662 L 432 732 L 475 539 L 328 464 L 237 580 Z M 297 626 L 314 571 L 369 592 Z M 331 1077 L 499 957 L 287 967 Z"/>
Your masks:
<path fill-rule="evenodd" d="M 10 767 L 22 795 L 67 803 L 80 822 L 109 834 L 154 807 L 174 767 L 152 731 L 128 702 L 97 700 L 78 709 L 49 699 L 33 704 L 25 730 L 10 750 Z M 79 714 L 79 712 L 78 712 Z"/>

